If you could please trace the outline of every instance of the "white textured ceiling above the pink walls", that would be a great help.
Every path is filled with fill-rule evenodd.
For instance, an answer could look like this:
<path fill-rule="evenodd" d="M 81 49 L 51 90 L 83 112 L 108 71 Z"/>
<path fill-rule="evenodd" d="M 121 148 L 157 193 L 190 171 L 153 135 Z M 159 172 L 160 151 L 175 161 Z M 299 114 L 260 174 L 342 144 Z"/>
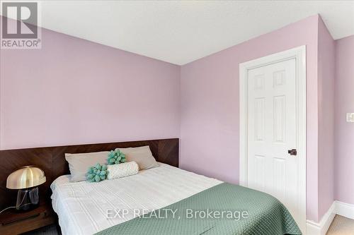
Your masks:
<path fill-rule="evenodd" d="M 187 64 L 319 13 L 354 35 L 354 1 L 42 1 L 42 27 Z"/>

